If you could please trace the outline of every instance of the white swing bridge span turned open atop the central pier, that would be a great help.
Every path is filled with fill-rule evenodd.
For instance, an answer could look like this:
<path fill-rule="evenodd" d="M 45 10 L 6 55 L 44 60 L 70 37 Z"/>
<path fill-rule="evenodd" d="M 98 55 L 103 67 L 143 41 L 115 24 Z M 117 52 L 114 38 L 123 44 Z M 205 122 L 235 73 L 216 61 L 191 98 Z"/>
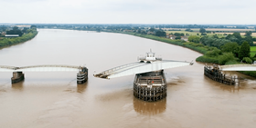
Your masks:
<path fill-rule="evenodd" d="M 118 67 L 101 72 L 100 74 L 93 74 L 95 77 L 110 79 L 115 77 L 121 77 L 131 74 L 142 74 L 147 72 L 159 71 L 167 68 L 175 68 L 179 66 L 192 65 L 193 63 L 181 62 L 181 61 L 155 61 L 151 63 L 133 63 L 133 64 L 124 64 Z"/>

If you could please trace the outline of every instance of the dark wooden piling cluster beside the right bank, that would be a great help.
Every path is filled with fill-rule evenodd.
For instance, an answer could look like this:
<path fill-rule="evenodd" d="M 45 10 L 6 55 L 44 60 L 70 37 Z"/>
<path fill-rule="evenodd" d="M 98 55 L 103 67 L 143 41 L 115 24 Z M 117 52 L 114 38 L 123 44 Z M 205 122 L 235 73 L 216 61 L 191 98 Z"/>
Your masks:
<path fill-rule="evenodd" d="M 227 77 L 226 74 L 222 74 L 221 71 L 219 71 L 219 68 L 214 65 L 213 68 L 211 68 L 210 66 L 205 66 L 204 67 L 204 74 L 216 81 L 216 82 L 219 82 L 221 84 L 229 84 L 229 85 L 235 85 L 236 83 L 239 84 L 238 81 L 236 81 L 236 78 L 235 76 L 231 76 L 231 77 Z"/>

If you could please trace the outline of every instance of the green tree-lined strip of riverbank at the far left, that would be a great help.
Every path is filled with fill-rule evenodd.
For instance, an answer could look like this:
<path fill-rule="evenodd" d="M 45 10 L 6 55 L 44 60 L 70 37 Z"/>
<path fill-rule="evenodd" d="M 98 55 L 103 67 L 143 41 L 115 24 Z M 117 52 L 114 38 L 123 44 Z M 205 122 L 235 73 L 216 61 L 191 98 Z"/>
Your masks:
<path fill-rule="evenodd" d="M 0 49 L 14 45 L 14 44 L 21 44 L 25 43 L 28 40 L 33 39 L 37 35 L 37 30 L 35 29 L 29 29 L 28 34 L 23 34 L 20 37 L 14 37 L 14 38 L 3 38 L 0 40 Z"/>

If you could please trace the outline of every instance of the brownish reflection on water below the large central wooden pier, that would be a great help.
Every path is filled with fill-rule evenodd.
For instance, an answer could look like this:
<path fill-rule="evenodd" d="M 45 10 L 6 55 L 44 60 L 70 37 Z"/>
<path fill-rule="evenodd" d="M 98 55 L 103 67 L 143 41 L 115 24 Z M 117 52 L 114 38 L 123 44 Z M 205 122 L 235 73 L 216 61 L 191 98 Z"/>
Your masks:
<path fill-rule="evenodd" d="M 164 113 L 166 110 L 166 98 L 158 102 L 148 103 L 133 97 L 133 108 L 135 112 L 145 115 Z"/>

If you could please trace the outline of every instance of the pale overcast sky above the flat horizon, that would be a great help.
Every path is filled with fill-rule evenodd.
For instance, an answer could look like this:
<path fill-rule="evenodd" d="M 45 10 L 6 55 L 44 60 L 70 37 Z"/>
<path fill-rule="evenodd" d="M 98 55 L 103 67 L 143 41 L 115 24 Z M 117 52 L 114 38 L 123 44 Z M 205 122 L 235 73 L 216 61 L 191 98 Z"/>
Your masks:
<path fill-rule="evenodd" d="M 256 0 L 0 0 L 0 23 L 256 25 Z"/>

